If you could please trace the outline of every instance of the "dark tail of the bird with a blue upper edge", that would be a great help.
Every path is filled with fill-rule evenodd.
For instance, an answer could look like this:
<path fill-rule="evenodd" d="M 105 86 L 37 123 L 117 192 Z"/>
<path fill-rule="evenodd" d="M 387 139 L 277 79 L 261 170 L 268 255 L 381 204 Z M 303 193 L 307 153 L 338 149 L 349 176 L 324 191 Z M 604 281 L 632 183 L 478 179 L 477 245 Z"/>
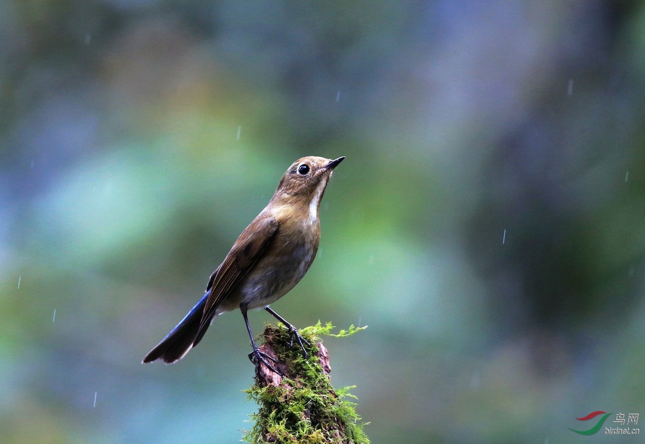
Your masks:
<path fill-rule="evenodd" d="M 181 322 L 177 324 L 177 327 L 172 329 L 163 341 L 159 342 L 154 349 L 146 354 L 146 357 L 143 358 L 143 363 L 153 362 L 157 359 L 163 359 L 166 363 L 176 362 L 199 343 L 211 321 L 209 319 L 202 329 L 199 328 L 204 314 L 206 298 L 208 298 L 208 292 L 184 316 Z"/>

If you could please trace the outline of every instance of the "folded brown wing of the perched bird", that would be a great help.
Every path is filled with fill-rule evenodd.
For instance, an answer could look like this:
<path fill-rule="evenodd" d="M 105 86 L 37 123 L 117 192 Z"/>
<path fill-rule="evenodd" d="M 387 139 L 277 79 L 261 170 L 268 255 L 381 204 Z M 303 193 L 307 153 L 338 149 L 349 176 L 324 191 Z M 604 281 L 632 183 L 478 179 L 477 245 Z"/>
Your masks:
<path fill-rule="evenodd" d="M 219 304 L 228 296 L 235 284 L 252 269 L 255 262 L 261 258 L 277 229 L 278 221 L 275 218 L 257 218 L 237 238 L 233 248 L 224 258 L 224 262 L 213 271 L 210 280 L 208 280 L 206 291 L 209 293 L 204 305 L 200 330 L 208 327 Z"/>

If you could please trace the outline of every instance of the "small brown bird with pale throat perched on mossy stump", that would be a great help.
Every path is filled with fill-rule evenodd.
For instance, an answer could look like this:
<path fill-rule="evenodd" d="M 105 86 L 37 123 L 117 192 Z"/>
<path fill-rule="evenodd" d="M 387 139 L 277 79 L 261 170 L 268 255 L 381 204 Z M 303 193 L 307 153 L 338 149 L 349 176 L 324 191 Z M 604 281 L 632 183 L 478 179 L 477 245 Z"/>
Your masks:
<path fill-rule="evenodd" d="M 303 157 L 293 162 L 273 197 L 237 238 L 213 274 L 206 293 L 168 336 L 152 349 L 143 363 L 162 359 L 176 362 L 201 341 L 214 316 L 239 308 L 244 316 L 253 351 L 249 358 L 277 372 L 253 340 L 246 312 L 263 307 L 290 331 L 304 354 L 304 339 L 297 329 L 275 313 L 269 304 L 288 293 L 304 276 L 318 251 L 318 208 L 332 171 L 344 157 L 330 160 Z"/>

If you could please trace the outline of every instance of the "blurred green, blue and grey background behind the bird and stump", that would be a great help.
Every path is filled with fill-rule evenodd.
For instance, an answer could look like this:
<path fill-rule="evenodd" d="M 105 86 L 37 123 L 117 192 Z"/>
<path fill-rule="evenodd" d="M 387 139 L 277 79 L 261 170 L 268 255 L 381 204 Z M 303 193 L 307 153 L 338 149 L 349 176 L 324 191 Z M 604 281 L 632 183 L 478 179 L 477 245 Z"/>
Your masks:
<path fill-rule="evenodd" d="M 273 308 L 369 325 L 324 342 L 373 443 L 642 442 L 567 427 L 645 415 L 644 148 L 639 0 L 0 1 L 0 441 L 241 439 L 239 312 L 141 359 L 344 155 Z"/>

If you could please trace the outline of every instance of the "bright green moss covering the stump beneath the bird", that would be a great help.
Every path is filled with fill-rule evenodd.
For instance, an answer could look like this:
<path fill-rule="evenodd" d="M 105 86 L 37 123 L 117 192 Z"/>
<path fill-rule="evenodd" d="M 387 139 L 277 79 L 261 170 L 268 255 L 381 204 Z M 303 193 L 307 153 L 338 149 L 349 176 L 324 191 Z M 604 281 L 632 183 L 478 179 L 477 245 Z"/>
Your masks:
<path fill-rule="evenodd" d="M 355 412 L 355 403 L 346 400 L 355 396 L 344 387 L 334 390 L 329 376 L 321 366 L 319 336 L 350 336 L 366 327 L 354 327 L 332 334 L 331 323 L 300 330 L 309 342 L 304 344 L 308 353 L 294 343 L 290 345 L 288 331 L 280 326 L 266 325 L 264 343 L 280 361 L 284 377 L 279 385 L 265 385 L 262 378 L 246 391 L 260 408 L 252 415 L 253 428 L 244 435 L 252 443 L 335 443 L 369 444 Z M 295 340 L 294 340 L 295 342 Z"/>

